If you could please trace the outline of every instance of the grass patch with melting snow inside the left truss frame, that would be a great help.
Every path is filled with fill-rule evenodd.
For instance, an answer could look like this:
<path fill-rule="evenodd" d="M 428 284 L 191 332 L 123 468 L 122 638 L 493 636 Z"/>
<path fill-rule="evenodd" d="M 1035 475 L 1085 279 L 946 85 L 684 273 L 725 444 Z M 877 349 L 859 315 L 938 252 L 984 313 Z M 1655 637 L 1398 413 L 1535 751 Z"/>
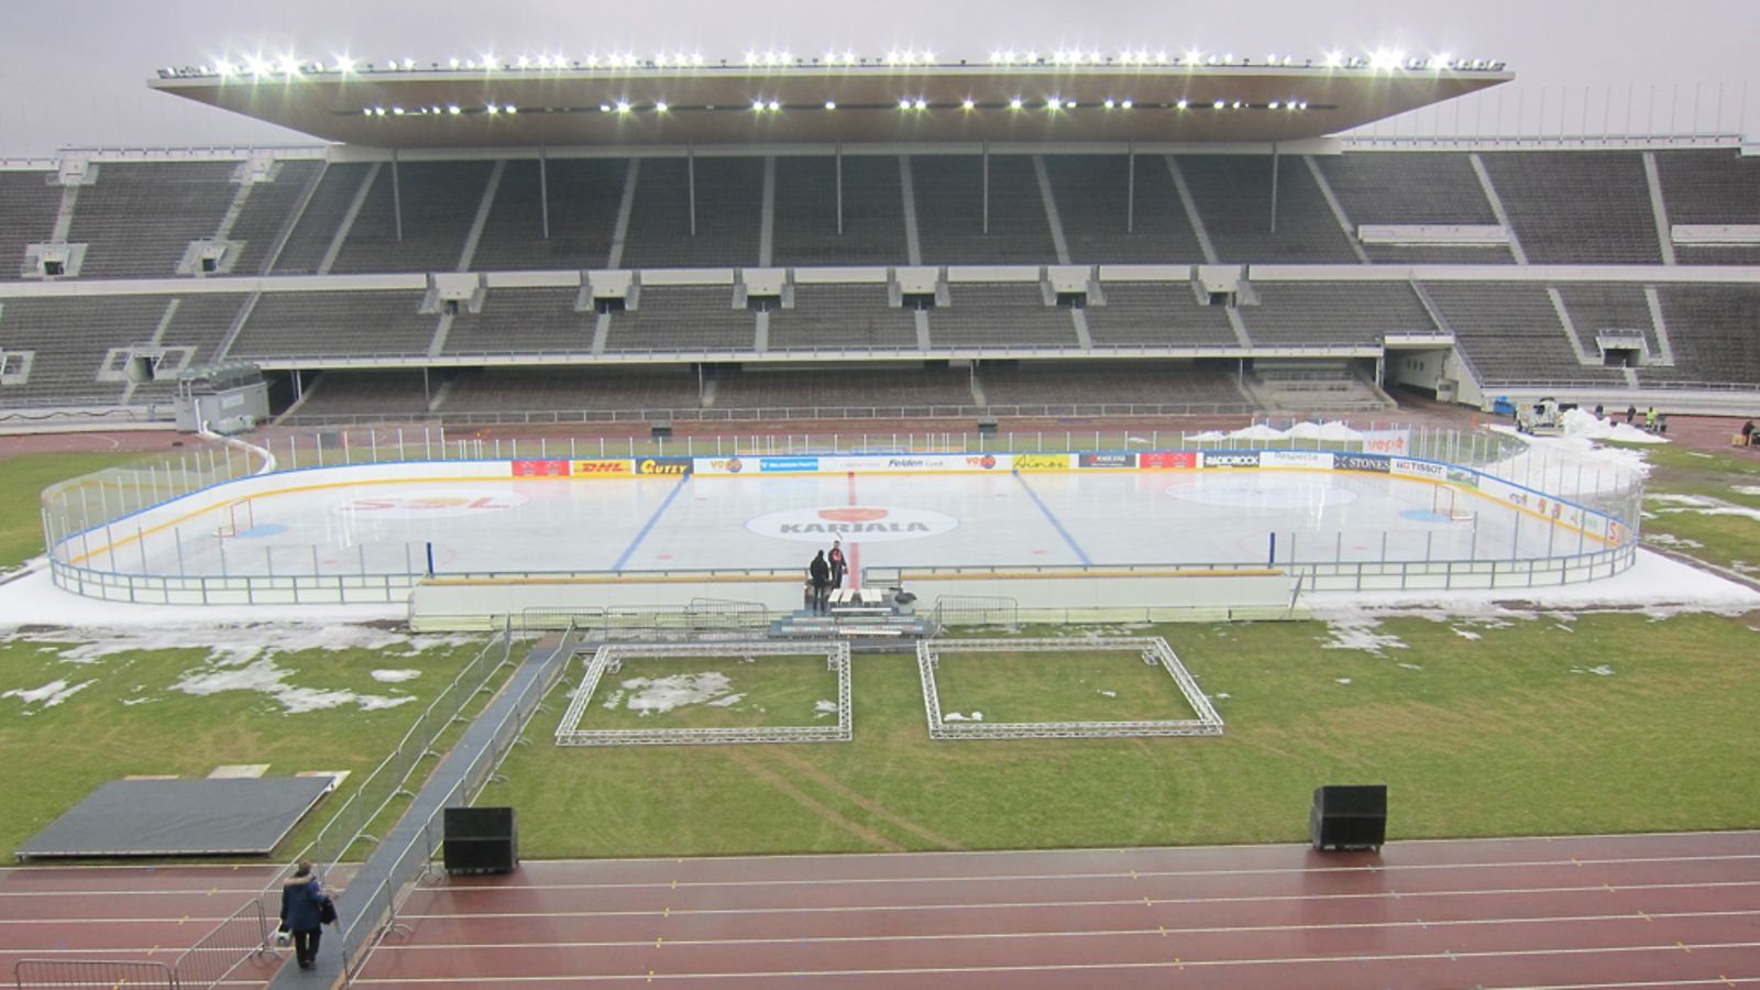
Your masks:
<path fill-rule="evenodd" d="M 824 655 L 625 657 L 620 673 L 600 678 L 576 728 L 834 726 L 836 701 L 838 675 Z"/>

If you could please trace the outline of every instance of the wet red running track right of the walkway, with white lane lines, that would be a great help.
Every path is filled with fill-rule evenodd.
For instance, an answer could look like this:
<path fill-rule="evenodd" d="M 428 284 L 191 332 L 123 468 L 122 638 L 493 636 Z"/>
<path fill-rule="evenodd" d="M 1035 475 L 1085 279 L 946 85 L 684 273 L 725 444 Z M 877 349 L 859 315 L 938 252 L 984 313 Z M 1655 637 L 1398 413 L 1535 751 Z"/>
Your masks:
<path fill-rule="evenodd" d="M 1760 831 L 524 863 L 417 890 L 361 986 L 1735 986 Z"/>

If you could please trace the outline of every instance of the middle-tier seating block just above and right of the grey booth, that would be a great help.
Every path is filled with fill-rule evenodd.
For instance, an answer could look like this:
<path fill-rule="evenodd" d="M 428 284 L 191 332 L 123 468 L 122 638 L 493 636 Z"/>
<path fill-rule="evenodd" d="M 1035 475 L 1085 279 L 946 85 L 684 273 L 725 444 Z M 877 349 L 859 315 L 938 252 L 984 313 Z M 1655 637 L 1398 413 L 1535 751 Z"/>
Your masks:
<path fill-rule="evenodd" d="M 424 358 L 438 317 L 422 292 L 264 292 L 229 358 Z"/>

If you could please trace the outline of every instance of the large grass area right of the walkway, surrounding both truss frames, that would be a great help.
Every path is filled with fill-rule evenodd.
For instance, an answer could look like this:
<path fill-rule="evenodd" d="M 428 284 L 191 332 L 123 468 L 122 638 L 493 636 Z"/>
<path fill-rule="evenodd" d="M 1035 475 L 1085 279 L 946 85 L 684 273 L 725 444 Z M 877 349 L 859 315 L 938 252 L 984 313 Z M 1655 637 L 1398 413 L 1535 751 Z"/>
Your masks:
<path fill-rule="evenodd" d="M 929 742 L 913 657 L 857 655 L 854 742 L 581 750 L 553 712 L 482 802 L 535 858 L 1287 842 L 1325 782 L 1387 782 L 1397 839 L 1753 828 L 1756 624 L 1396 618 L 1385 655 L 1318 622 L 1148 631 L 1220 738 Z"/>

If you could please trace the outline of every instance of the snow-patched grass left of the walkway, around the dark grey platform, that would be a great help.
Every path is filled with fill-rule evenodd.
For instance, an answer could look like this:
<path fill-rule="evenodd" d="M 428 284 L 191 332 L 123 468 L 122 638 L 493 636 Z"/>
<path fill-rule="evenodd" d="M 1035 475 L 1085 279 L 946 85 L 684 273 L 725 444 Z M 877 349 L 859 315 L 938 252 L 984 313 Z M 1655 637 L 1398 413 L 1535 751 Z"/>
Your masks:
<path fill-rule="evenodd" d="M 350 770 L 343 789 L 290 837 L 289 851 L 297 849 L 480 648 L 248 650 L 216 661 L 206 646 L 90 657 L 74 645 L 0 641 L 0 754 L 11 780 L 0 802 L 0 851 L 11 854 L 100 784 L 130 773 L 206 777 L 224 763 L 268 763 L 269 775 Z M 384 683 L 375 669 L 419 676 Z M 202 691 L 201 678 L 206 687 L 238 678 L 269 691 L 178 687 Z M 56 682 L 62 691 L 79 687 L 56 705 L 9 694 L 55 694 L 42 689 Z M 322 703 L 326 692 L 408 701 L 375 710 L 352 701 L 310 712 L 287 706 Z"/>

